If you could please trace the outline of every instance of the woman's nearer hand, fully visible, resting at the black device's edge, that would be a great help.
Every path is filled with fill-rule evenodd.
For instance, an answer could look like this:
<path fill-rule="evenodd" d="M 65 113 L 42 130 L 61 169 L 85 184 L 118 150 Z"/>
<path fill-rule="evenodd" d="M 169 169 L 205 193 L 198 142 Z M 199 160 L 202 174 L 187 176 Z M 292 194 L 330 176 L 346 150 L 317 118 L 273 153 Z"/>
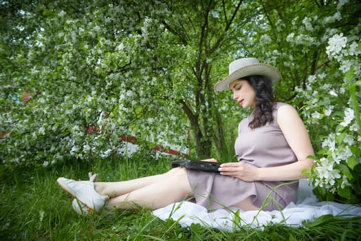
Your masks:
<path fill-rule="evenodd" d="M 245 182 L 253 182 L 257 180 L 257 167 L 242 162 L 223 163 L 219 171 L 221 175 L 239 178 Z"/>

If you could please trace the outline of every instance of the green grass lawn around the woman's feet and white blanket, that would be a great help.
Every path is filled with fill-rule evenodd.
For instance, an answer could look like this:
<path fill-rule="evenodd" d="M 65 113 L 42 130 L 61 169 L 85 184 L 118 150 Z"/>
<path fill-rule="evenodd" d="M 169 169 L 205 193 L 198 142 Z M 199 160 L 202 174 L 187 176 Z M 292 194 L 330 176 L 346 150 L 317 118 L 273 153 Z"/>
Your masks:
<path fill-rule="evenodd" d="M 87 179 L 88 171 L 105 181 L 160 174 L 169 169 L 169 162 L 117 160 L 16 170 L 1 166 L 0 240 L 361 240 L 360 217 L 322 216 L 302 228 L 272 224 L 228 233 L 199 224 L 182 228 L 142 209 L 78 216 L 72 198 L 56 183 L 59 176 Z"/>

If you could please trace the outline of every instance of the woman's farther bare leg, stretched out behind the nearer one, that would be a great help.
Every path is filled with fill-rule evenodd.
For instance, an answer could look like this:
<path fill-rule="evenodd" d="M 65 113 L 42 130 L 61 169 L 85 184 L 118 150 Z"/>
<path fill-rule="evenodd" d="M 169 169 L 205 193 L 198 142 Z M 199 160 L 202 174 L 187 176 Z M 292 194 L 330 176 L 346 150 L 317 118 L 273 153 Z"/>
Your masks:
<path fill-rule="evenodd" d="M 130 193 L 142 187 L 152 185 L 155 182 L 162 182 L 169 176 L 173 176 L 179 168 L 171 169 L 165 174 L 155 176 L 146 176 L 144 178 L 137 178 L 133 180 L 125 180 L 121 182 L 94 182 L 96 191 L 102 195 L 107 195 L 111 198 L 120 196 L 122 194 Z M 186 171 L 184 171 L 186 172 Z M 188 182 L 188 179 L 186 180 Z"/>

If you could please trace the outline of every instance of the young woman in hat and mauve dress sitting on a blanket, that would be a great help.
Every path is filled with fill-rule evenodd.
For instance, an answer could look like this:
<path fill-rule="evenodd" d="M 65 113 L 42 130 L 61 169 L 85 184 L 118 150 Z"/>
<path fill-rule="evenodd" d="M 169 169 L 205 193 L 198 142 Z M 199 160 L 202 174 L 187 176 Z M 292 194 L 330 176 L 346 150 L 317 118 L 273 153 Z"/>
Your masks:
<path fill-rule="evenodd" d="M 272 84 L 281 74 L 254 58 L 233 61 L 229 72 L 215 91 L 231 90 L 239 105 L 252 108 L 239 123 L 234 143 L 237 163 L 223 163 L 219 174 L 177 167 L 121 182 L 94 182 L 94 176 L 90 181 L 58 178 L 58 184 L 76 198 L 74 209 L 78 213 L 135 206 L 158 209 L 194 198 L 208 210 L 232 206 L 271 211 L 296 202 L 298 182 L 289 181 L 307 177 L 303 170 L 313 165 L 307 156 L 314 150 L 296 109 L 274 101 Z"/>

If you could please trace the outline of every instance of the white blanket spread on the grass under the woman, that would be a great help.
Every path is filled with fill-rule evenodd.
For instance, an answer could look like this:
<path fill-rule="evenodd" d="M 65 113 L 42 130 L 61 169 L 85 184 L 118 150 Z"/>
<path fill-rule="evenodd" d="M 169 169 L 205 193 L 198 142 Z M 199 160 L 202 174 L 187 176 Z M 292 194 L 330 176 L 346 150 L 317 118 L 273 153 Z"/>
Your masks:
<path fill-rule="evenodd" d="M 337 202 L 319 202 L 312 193 L 307 180 L 300 180 L 297 203 L 290 203 L 282 211 L 237 210 L 237 208 L 231 207 L 208 212 L 204 207 L 193 202 L 176 202 L 153 211 L 153 215 L 161 220 L 169 218 L 177 220 L 182 227 L 188 227 L 194 223 L 230 232 L 234 231 L 234 224 L 256 228 L 272 223 L 282 223 L 301 227 L 303 221 L 313 221 L 327 214 L 361 216 L 361 207 Z M 236 219 L 234 219 L 235 217 Z M 238 220 L 238 222 L 234 220 Z"/>

